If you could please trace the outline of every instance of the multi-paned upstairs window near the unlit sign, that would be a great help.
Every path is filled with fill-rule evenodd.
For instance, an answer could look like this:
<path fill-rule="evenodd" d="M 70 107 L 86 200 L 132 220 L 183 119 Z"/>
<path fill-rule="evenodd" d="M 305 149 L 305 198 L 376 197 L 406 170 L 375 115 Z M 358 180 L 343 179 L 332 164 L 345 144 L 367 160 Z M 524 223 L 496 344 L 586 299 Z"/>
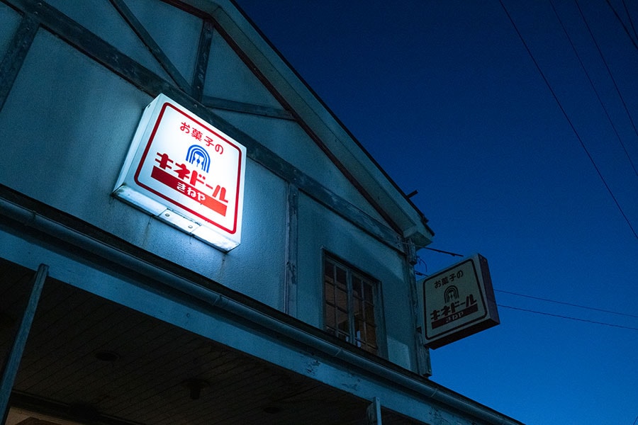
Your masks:
<path fill-rule="evenodd" d="M 375 306 L 379 282 L 326 255 L 323 288 L 325 330 L 377 354 L 379 321 Z"/>

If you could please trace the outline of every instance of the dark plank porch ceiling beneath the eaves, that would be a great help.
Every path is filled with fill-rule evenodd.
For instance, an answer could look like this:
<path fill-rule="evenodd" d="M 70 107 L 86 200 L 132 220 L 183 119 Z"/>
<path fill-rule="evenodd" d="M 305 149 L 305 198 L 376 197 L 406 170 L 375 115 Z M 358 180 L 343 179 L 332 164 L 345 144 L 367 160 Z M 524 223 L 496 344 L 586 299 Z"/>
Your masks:
<path fill-rule="evenodd" d="M 0 276 L 4 359 L 33 271 L 0 260 Z M 12 402 L 24 425 L 365 424 L 370 404 L 52 278 Z M 383 423 L 420 424 L 386 410 Z"/>

